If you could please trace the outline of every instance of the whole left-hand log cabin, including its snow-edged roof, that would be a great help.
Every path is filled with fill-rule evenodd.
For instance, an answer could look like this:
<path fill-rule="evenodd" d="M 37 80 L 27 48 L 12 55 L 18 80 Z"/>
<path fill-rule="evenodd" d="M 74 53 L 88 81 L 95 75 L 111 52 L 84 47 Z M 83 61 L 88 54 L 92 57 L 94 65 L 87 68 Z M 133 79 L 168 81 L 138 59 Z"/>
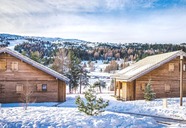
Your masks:
<path fill-rule="evenodd" d="M 0 48 L 0 103 L 21 102 L 30 95 L 34 102 L 63 102 L 69 79 L 22 54 Z"/>

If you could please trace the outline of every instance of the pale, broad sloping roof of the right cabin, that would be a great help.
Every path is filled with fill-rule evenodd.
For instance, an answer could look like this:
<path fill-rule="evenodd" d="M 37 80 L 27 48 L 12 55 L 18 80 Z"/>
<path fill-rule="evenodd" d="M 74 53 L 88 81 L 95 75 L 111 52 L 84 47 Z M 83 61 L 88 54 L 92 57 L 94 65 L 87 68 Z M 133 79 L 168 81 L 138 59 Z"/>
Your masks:
<path fill-rule="evenodd" d="M 135 64 L 119 71 L 118 73 L 114 74 L 113 77 L 121 81 L 131 82 L 158 68 L 159 66 L 175 59 L 180 55 L 186 56 L 186 53 L 183 51 L 175 51 L 148 56 L 136 62 Z"/>

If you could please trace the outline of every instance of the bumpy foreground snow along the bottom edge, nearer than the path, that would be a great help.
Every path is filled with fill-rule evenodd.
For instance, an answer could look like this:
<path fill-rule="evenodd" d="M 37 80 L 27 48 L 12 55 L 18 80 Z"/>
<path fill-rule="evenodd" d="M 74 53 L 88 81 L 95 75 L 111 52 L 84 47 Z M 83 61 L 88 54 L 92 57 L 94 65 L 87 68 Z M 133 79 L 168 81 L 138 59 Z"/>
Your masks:
<path fill-rule="evenodd" d="M 129 115 L 104 112 L 100 116 L 87 116 L 77 108 L 32 107 L 3 109 L 0 127 L 62 127 L 62 128 L 113 128 L 113 127 L 157 127 L 150 118 L 135 118 Z M 8 113 L 8 116 L 7 116 Z M 130 122 L 130 123 L 128 123 Z"/>

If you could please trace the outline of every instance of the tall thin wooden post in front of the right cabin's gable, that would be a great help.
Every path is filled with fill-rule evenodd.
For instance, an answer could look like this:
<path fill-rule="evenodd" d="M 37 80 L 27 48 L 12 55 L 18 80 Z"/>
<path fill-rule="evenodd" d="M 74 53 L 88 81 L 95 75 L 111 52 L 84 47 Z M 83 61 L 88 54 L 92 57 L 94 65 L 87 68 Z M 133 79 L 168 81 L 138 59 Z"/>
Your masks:
<path fill-rule="evenodd" d="M 183 56 L 180 56 L 180 106 L 183 101 Z"/>

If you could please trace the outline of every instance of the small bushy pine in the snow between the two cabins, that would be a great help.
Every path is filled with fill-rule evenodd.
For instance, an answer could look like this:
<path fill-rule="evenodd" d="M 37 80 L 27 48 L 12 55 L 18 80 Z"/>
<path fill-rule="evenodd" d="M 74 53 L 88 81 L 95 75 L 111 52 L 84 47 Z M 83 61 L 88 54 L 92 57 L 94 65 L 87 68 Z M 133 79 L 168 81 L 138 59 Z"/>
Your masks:
<path fill-rule="evenodd" d="M 87 115 L 99 115 L 101 112 L 104 112 L 104 108 L 109 105 L 109 101 L 104 101 L 103 98 L 97 99 L 92 87 L 90 87 L 84 94 L 86 101 L 84 102 L 80 96 L 78 96 L 76 98 L 76 104 L 78 105 L 78 110 Z"/>

